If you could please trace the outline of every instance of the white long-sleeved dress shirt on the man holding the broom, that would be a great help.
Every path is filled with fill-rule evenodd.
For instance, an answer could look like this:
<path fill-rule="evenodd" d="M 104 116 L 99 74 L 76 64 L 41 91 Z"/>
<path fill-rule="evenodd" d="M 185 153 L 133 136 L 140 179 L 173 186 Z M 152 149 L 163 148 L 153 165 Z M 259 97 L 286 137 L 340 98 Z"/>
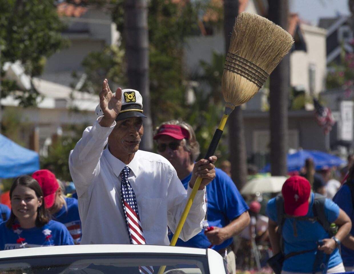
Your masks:
<path fill-rule="evenodd" d="M 167 225 L 175 232 L 192 189 L 184 189 L 176 170 L 161 155 L 138 150 L 128 165 L 115 158 L 104 147 L 116 122 L 102 127 L 101 117 L 87 127 L 69 156 L 82 223 L 81 244 L 129 244 L 120 197 L 120 173 L 128 166 L 146 244 L 169 245 Z M 195 196 L 179 235 L 184 241 L 202 229 L 204 194 L 205 190 L 198 190 Z"/>

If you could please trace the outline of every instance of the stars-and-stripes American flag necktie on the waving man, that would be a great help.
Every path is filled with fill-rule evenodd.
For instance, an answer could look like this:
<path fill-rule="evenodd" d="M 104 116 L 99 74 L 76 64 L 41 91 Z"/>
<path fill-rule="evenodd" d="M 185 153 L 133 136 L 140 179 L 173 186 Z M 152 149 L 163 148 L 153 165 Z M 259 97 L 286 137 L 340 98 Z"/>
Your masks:
<path fill-rule="evenodd" d="M 120 187 L 120 196 L 125 216 L 125 223 L 128 230 L 130 244 L 144 245 L 144 232 L 141 227 L 140 217 L 138 212 L 138 205 L 136 203 L 135 193 L 128 181 L 130 168 L 125 166 L 120 175 L 122 176 L 122 183 Z M 152 266 L 140 266 L 139 271 L 144 274 L 154 273 Z"/>

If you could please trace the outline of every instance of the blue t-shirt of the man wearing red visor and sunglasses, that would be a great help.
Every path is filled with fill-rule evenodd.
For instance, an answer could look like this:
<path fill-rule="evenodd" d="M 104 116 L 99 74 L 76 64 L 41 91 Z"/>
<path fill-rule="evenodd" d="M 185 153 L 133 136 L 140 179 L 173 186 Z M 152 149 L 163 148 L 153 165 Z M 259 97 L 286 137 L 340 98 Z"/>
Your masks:
<path fill-rule="evenodd" d="M 210 227 L 225 227 L 249 207 L 232 179 L 221 169 L 215 168 L 215 172 L 215 179 L 206 186 L 207 222 Z M 182 180 L 185 189 L 187 189 L 191 177 L 192 173 Z M 169 233 L 170 241 L 172 236 L 173 234 Z M 212 249 L 220 250 L 229 246 L 232 241 L 232 238 L 227 239 L 221 245 L 213 246 Z M 178 239 L 176 243 L 176 246 L 199 248 L 208 248 L 210 245 L 210 241 L 204 234 L 204 229 L 192 239 L 186 242 Z"/>

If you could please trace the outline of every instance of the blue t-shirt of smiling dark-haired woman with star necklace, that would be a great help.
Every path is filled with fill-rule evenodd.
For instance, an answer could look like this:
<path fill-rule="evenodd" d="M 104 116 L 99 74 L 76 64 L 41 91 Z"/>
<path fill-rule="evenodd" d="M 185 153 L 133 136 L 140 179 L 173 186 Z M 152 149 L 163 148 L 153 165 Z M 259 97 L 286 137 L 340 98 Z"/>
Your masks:
<path fill-rule="evenodd" d="M 68 229 L 59 222 L 50 220 L 43 227 L 29 229 L 18 228 L 18 233 L 6 227 L 6 222 L 0 224 L 0 250 L 18 249 L 22 243 L 25 247 L 73 245 L 74 241 Z M 17 242 L 22 238 L 21 242 Z"/>

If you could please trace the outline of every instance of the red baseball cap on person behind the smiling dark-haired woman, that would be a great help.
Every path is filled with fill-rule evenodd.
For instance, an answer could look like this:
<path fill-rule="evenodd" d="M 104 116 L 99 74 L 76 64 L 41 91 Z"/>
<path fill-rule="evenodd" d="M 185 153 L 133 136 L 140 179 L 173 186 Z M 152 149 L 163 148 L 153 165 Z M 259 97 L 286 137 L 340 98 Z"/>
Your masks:
<path fill-rule="evenodd" d="M 59 184 L 55 175 L 47 169 L 41 169 L 32 174 L 32 178 L 41 186 L 44 195 L 45 207 L 48 209 L 54 205 L 55 193 Z"/>

